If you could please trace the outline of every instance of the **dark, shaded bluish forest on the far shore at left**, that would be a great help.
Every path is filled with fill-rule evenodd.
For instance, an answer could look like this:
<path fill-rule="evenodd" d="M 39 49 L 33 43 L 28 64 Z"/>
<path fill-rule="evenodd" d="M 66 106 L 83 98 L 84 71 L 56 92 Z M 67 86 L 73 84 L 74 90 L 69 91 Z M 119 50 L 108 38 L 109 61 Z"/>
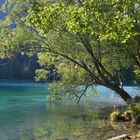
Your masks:
<path fill-rule="evenodd" d="M 17 55 L 12 59 L 1 59 L 0 79 L 34 80 L 37 68 L 36 56 Z"/>

